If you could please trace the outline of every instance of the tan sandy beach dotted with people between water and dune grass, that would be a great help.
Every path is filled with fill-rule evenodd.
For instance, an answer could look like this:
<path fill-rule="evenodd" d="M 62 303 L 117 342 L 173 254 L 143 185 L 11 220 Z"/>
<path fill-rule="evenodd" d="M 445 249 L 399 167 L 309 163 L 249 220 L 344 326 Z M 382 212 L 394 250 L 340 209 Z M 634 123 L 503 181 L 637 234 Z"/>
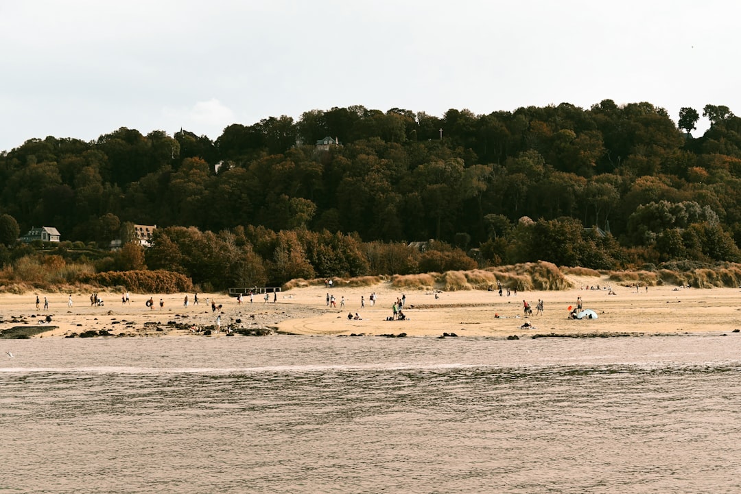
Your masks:
<path fill-rule="evenodd" d="M 511 292 L 499 296 L 496 291 L 399 290 L 390 282 L 370 287 L 348 287 L 342 282 L 328 289 L 323 285 L 302 287 L 270 296 L 268 304 L 261 296 L 249 297 L 238 304 L 236 298 L 213 293 L 199 293 L 199 304 L 184 305 L 185 293 L 130 294 L 130 303 L 122 304 L 120 293 L 101 293 L 102 307 L 90 304 L 90 293 L 73 293 L 73 307 L 67 307 L 64 293 L 0 294 L 0 331 L 13 327 L 38 327 L 34 338 L 64 337 L 88 330 L 107 330 L 115 336 L 199 336 L 192 329 L 216 326 L 221 316 L 222 332 L 232 327 L 271 328 L 282 333 L 316 336 L 399 335 L 507 336 L 534 334 L 617 335 L 717 332 L 731 333 L 741 328 L 740 290 L 736 288 L 697 289 L 674 286 L 641 287 L 639 290 L 612 284 L 614 295 L 605 289 L 606 278 L 570 277 L 574 288 L 561 291 Z M 590 287 L 601 287 L 600 290 Z M 328 307 L 327 294 L 336 298 L 336 307 Z M 376 303 L 369 301 L 376 294 Z M 39 310 L 36 296 L 39 296 Z M 437 297 L 436 297 L 437 295 Z M 388 321 L 396 298 L 405 296 L 405 321 Z M 44 310 L 44 297 L 49 308 Z M 150 309 L 145 301 L 155 302 Z M 345 307 L 341 306 L 342 297 Z M 365 307 L 361 307 L 361 297 Z M 568 307 L 576 307 L 581 297 L 585 309 L 594 310 L 597 319 L 574 320 Z M 162 310 L 159 301 L 162 299 Z M 211 301 L 221 308 L 214 312 Z M 534 315 L 523 316 L 523 300 Z M 543 301 L 543 313 L 535 311 Z M 348 313 L 360 319 L 348 320 Z M 498 317 L 496 317 L 498 316 Z M 532 328 L 523 329 L 528 322 Z M 44 330 L 49 327 L 49 330 Z M 189 329 L 190 328 L 190 329 Z"/>

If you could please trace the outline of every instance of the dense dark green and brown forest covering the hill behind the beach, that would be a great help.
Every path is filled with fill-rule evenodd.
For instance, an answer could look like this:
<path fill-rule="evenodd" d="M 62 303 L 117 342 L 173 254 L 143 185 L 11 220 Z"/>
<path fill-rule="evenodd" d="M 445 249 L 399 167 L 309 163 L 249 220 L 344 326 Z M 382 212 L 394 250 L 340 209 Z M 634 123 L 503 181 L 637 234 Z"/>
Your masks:
<path fill-rule="evenodd" d="M 0 154 L 0 264 L 33 255 L 15 241 L 30 227 L 106 247 L 131 224 L 157 225 L 153 247 L 97 270 L 216 288 L 538 260 L 741 261 L 741 118 L 711 104 L 702 117 L 694 137 L 697 110 L 675 124 L 648 102 L 442 117 L 354 106 L 232 124 L 215 141 L 125 127 L 34 138 Z"/>

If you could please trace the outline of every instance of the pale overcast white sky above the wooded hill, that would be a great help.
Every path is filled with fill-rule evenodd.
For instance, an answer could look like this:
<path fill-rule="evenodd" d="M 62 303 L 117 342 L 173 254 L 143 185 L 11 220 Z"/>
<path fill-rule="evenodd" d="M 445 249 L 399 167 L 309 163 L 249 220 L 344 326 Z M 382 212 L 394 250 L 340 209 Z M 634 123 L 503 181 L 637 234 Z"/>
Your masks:
<path fill-rule="evenodd" d="M 741 113 L 740 14 L 728 0 L 0 0 L 0 151 L 119 127 L 215 139 L 351 104 Z"/>

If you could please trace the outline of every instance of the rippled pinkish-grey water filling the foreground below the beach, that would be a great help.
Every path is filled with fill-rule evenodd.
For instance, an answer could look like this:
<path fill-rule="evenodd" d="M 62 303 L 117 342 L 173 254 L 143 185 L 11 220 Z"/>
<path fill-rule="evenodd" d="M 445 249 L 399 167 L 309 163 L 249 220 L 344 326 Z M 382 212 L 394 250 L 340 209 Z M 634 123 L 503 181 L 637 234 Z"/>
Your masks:
<path fill-rule="evenodd" d="M 741 492 L 735 333 L 0 351 L 0 493 Z"/>

